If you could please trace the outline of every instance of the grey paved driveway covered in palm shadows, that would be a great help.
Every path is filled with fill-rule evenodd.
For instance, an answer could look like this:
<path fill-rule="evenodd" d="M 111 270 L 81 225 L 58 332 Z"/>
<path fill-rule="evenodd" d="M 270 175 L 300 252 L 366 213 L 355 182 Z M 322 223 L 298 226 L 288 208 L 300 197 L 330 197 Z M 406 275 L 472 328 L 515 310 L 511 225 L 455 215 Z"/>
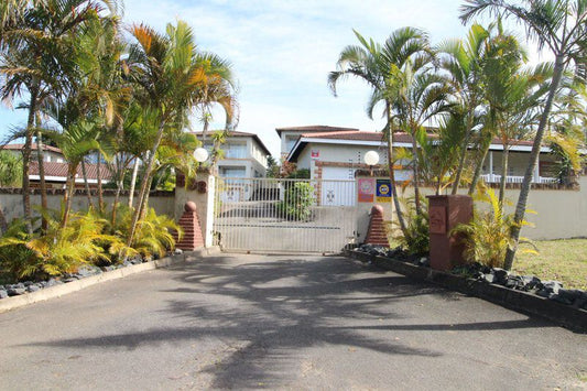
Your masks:
<path fill-rule="evenodd" d="M 0 389 L 585 389 L 587 336 L 338 257 L 221 254 L 0 314 Z"/>

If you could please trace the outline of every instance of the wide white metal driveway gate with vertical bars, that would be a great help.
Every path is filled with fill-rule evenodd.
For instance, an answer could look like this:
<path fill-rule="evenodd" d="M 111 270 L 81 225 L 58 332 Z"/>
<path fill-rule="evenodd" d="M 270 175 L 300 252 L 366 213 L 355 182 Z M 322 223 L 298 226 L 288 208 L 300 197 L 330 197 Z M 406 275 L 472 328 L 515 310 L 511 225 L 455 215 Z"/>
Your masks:
<path fill-rule="evenodd" d="M 215 194 L 225 250 L 339 252 L 356 238 L 355 181 L 218 177 Z"/>

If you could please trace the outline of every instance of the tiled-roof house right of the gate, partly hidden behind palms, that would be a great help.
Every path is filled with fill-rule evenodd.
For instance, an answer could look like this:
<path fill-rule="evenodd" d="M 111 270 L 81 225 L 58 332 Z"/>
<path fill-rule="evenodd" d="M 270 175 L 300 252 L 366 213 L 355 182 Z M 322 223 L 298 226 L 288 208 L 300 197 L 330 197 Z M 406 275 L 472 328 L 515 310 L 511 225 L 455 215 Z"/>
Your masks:
<path fill-rule="evenodd" d="M 287 152 L 286 160 L 296 163 L 298 169 L 308 169 L 312 178 L 322 180 L 352 180 L 357 170 L 369 169 L 363 156 L 368 151 L 379 152 L 379 165 L 387 165 L 387 142 L 381 132 L 367 132 L 359 130 L 336 130 L 327 132 L 312 131 L 301 133 L 292 149 Z M 282 139 L 282 145 L 284 140 Z M 412 148 L 412 138 L 405 133 L 395 133 L 394 148 Z M 510 148 L 508 183 L 521 183 L 528 165 L 532 142 L 517 141 Z M 283 152 L 283 151 L 282 151 Z M 558 183 L 555 177 L 555 158 L 551 149 L 542 146 L 540 163 L 534 173 L 534 183 Z M 494 140 L 489 149 L 488 156 L 482 167 L 482 177 L 487 183 L 498 183 L 501 173 L 501 156 L 503 145 Z M 395 178 L 406 181 L 411 177 L 410 170 L 405 170 L 407 162 L 400 162 L 395 166 Z"/>

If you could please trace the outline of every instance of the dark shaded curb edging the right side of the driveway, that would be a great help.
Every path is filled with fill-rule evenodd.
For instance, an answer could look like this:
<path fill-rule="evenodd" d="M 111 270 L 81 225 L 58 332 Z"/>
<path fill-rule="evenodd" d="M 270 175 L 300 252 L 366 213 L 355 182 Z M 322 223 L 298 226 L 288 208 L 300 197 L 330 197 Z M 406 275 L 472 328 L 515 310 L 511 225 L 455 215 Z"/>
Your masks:
<path fill-rule="evenodd" d="M 476 296 L 517 312 L 541 316 L 577 333 L 587 333 L 587 311 L 581 308 L 556 303 L 528 292 L 510 290 L 501 285 L 417 267 L 385 257 L 371 256 L 352 250 L 345 250 L 344 254 L 361 262 L 371 262 L 378 268 L 415 280 L 432 282 L 453 291 Z"/>

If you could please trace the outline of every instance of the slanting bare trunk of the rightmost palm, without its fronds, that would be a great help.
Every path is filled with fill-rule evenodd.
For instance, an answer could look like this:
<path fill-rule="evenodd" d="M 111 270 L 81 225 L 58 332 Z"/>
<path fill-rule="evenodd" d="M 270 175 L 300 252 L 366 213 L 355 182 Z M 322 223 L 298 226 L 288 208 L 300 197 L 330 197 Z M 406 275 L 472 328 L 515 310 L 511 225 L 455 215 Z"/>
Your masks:
<path fill-rule="evenodd" d="M 518 251 L 518 242 L 520 240 L 522 221 L 524 220 L 528 195 L 530 194 L 530 186 L 532 184 L 532 176 L 539 162 L 542 139 L 544 138 L 544 130 L 546 129 L 546 123 L 548 121 L 553 100 L 556 95 L 556 90 L 558 89 L 558 86 L 561 84 L 561 78 L 563 77 L 564 68 L 564 57 L 562 54 L 557 54 L 554 64 L 553 82 L 551 84 L 551 89 L 548 90 L 548 97 L 546 98 L 544 110 L 542 111 L 542 116 L 540 117 L 539 129 L 536 130 L 536 135 L 534 137 L 532 152 L 530 153 L 530 161 L 525 170 L 524 180 L 520 189 L 520 196 L 518 198 L 518 204 L 515 205 L 515 214 L 513 216 L 515 225 L 512 227 L 512 230 L 510 232 L 510 239 L 513 242 L 513 246 L 509 247 L 508 251 L 506 251 L 506 259 L 503 261 L 503 268 L 506 270 L 511 270 L 513 265 L 513 259 L 515 257 L 515 251 Z"/>

